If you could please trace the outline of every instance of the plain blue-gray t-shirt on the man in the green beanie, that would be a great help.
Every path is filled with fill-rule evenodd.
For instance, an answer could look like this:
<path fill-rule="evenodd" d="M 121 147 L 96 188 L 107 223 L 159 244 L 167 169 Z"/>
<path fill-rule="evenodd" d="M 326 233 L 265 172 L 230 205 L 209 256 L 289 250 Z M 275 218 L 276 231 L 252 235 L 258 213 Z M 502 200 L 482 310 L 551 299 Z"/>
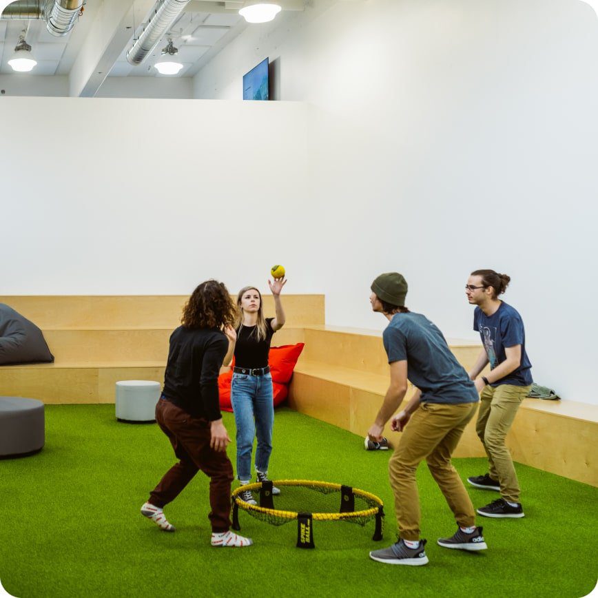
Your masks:
<path fill-rule="evenodd" d="M 421 313 L 395 313 L 382 333 L 389 363 L 407 361 L 407 378 L 430 403 L 475 403 L 467 372 L 448 349 L 442 332 Z"/>

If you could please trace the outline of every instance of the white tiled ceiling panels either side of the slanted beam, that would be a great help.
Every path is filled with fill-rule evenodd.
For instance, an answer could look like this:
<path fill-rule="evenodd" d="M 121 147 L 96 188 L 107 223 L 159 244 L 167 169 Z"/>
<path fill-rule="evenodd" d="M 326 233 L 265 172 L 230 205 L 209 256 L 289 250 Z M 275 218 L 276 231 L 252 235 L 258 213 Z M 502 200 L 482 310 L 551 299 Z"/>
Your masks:
<path fill-rule="evenodd" d="M 144 0 L 129 1 L 134 11 L 139 9 L 139 5 L 142 10 L 146 10 L 147 6 L 153 6 L 153 2 L 148 3 Z M 103 2 L 104 0 L 86 0 L 83 15 L 65 37 L 54 37 L 48 33 L 45 21 L 0 20 L 0 74 L 13 74 L 8 60 L 17 44 L 19 34 L 29 23 L 27 42 L 32 46 L 32 53 L 37 60 L 37 66 L 30 74 L 34 76 L 68 75 L 85 39 L 88 35 L 94 34 L 94 21 L 96 21 L 99 11 L 103 10 Z M 209 10 L 212 6 L 215 7 L 216 4 L 214 2 L 190 2 L 185 12 L 179 15 L 167 34 L 156 45 L 152 55 L 138 66 L 130 65 L 126 59 L 127 51 L 133 43 L 133 35 L 131 35 L 127 43 L 123 45 L 116 61 L 112 63 L 108 76 L 172 77 L 173 75 L 161 75 L 154 68 L 154 63 L 161 58 L 161 49 L 165 47 L 169 37 L 172 37 L 174 45 L 178 48 L 176 61 L 183 63 L 183 70 L 176 76 L 194 76 L 214 53 L 220 51 L 224 45 L 247 27 L 245 19 L 240 17 L 236 10 L 214 13 L 197 12 L 198 9 Z M 142 17 L 134 23 L 136 37 L 143 30 L 143 26 L 147 24 L 147 15 L 151 12 L 150 9 L 145 18 Z M 121 48 L 119 47 L 118 50 Z M 15 76 L 18 75 L 15 74 Z"/>

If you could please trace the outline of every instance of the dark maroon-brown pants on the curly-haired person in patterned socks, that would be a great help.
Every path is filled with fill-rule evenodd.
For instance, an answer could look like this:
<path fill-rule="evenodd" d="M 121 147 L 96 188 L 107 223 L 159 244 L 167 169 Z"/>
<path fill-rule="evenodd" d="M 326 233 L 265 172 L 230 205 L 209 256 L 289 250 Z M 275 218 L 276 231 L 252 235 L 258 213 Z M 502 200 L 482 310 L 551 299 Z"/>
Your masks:
<path fill-rule="evenodd" d="M 161 399 L 156 405 L 156 422 L 167 435 L 179 462 L 165 473 L 149 494 L 149 502 L 159 508 L 172 502 L 201 470 L 209 477 L 211 511 L 208 518 L 212 531 L 228 531 L 233 466 L 225 452 L 210 448 L 208 420 L 192 417 L 172 402 Z"/>

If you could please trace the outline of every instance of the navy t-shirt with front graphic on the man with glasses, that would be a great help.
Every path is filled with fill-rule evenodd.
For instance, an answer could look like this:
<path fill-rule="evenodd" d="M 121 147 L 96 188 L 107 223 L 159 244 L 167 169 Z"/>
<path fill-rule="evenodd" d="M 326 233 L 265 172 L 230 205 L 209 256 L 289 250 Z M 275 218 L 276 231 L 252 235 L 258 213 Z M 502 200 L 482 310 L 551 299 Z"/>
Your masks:
<path fill-rule="evenodd" d="M 486 316 L 479 307 L 476 307 L 473 312 L 473 329 L 479 332 L 480 337 L 482 337 L 482 344 L 484 344 L 486 355 L 488 355 L 490 369 L 495 369 L 498 364 L 506 360 L 505 347 L 521 345 L 521 363 L 519 367 L 504 378 L 493 382 L 491 386 L 499 386 L 500 384 L 529 386 L 533 382 L 530 371 L 532 364 L 526 353 L 526 333 L 523 320 L 517 309 L 503 301 L 492 316 Z"/>

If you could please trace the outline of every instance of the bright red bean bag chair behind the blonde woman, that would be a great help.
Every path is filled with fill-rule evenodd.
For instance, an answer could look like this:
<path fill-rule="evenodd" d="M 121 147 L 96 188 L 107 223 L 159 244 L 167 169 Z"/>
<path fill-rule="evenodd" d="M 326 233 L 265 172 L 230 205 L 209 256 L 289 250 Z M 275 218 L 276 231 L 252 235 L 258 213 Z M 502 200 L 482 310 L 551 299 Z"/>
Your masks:
<path fill-rule="evenodd" d="M 270 347 L 268 353 L 268 362 L 270 364 L 270 373 L 272 375 L 272 386 L 274 390 L 274 406 L 280 405 L 289 395 L 289 382 L 293 375 L 293 370 L 305 343 L 285 344 L 282 347 Z M 218 376 L 218 393 L 220 395 L 220 409 L 222 411 L 232 411 L 231 406 L 231 380 L 233 378 L 233 366 L 231 371 Z"/>

